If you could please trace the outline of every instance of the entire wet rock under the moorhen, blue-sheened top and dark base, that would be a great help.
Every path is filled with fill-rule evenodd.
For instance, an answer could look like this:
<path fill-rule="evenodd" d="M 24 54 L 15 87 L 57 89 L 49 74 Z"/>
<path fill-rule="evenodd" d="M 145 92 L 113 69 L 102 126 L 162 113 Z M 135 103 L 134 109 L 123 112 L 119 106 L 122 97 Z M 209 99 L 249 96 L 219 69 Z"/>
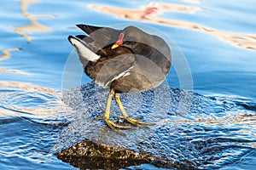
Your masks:
<path fill-rule="evenodd" d="M 251 150 L 253 139 L 249 135 L 245 138 L 226 123 L 240 113 L 230 101 L 165 85 L 142 94 L 122 94 L 130 116 L 143 116 L 143 121 L 156 124 L 120 130 L 125 134 L 120 135 L 105 122 L 94 121 L 104 114 L 107 95 L 108 89 L 93 82 L 63 95 L 67 110 L 73 111 L 67 116 L 71 123 L 63 128 L 53 149 L 59 159 L 80 169 L 119 169 L 141 163 L 205 169 L 218 167 L 220 162 L 237 161 L 232 153 L 242 156 Z M 119 114 L 113 101 L 111 118 L 116 119 Z"/>

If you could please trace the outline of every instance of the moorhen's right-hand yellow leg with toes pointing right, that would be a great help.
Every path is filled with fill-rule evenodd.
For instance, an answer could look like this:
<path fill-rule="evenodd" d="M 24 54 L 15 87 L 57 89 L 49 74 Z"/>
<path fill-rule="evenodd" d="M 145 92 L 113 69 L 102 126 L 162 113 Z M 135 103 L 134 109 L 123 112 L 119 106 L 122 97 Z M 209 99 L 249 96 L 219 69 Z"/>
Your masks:
<path fill-rule="evenodd" d="M 131 118 L 127 112 L 125 111 L 124 105 L 122 104 L 121 100 L 120 100 L 120 94 L 114 94 L 114 99 L 116 101 L 116 103 L 119 105 L 119 109 L 122 113 L 123 116 L 119 116 L 119 118 L 125 119 L 126 122 L 130 122 L 131 124 L 137 126 L 137 127 L 143 127 L 142 125 L 152 125 L 154 124 L 154 122 L 143 122 L 143 121 L 139 121 L 138 119 L 141 117 L 134 117 Z"/>

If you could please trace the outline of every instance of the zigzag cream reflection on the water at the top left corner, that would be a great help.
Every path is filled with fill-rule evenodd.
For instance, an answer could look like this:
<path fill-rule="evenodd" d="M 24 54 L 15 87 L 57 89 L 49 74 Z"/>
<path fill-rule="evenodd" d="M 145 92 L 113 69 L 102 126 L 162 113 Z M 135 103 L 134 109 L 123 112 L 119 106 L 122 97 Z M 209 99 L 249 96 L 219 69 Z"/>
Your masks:
<path fill-rule="evenodd" d="M 17 32 L 20 36 L 26 38 L 26 42 L 30 42 L 33 37 L 28 35 L 27 32 L 50 32 L 52 31 L 51 28 L 48 26 L 44 26 L 36 20 L 37 18 L 42 18 L 42 17 L 55 17 L 52 14 L 30 14 L 27 11 L 27 8 L 32 4 L 32 3 L 38 3 L 38 0 L 20 0 L 20 8 L 23 16 L 30 21 L 29 25 L 26 26 L 19 26 L 14 28 L 14 31 Z"/>

